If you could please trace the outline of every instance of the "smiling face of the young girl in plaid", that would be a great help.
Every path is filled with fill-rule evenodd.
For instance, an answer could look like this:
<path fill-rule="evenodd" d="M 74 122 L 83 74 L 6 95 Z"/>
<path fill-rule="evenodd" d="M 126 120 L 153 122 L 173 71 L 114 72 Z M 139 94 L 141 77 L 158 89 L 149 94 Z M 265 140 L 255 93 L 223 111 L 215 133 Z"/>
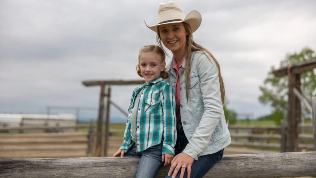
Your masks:
<path fill-rule="evenodd" d="M 140 55 L 138 65 L 143 78 L 149 82 L 160 76 L 160 72 L 165 70 L 166 62 L 161 63 L 159 55 L 149 52 Z"/>

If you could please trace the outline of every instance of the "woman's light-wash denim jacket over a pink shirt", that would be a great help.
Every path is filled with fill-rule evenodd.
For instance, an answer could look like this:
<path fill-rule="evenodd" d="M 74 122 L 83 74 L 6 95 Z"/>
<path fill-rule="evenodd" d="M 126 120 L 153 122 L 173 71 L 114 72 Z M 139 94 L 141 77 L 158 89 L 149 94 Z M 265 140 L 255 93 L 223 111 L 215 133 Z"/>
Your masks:
<path fill-rule="evenodd" d="M 189 143 L 183 152 L 197 160 L 198 156 L 216 153 L 231 143 L 226 125 L 218 68 L 213 58 L 202 51 L 191 53 L 191 73 L 188 102 L 185 94 L 185 61 L 180 75 L 180 113 L 185 136 Z M 186 60 L 186 59 L 184 59 Z M 177 75 L 173 61 L 169 62 L 166 79 L 175 87 Z"/>

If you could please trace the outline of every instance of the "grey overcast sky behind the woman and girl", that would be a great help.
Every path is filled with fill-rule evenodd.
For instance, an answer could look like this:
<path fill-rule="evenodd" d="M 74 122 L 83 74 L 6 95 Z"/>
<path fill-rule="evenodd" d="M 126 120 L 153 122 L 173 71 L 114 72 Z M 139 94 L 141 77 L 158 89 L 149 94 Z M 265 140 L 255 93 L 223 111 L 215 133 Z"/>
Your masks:
<path fill-rule="evenodd" d="M 0 0 L 0 113 L 98 107 L 100 88 L 83 80 L 141 79 L 138 50 L 156 44 L 143 19 L 155 25 L 160 3 L 167 2 Z M 219 61 L 228 107 L 237 113 L 270 113 L 258 102 L 270 66 L 304 47 L 316 50 L 315 0 L 175 3 L 185 14 L 201 13 L 194 40 Z M 135 87 L 112 86 L 112 100 L 127 111 Z M 112 109 L 111 117 L 124 115 Z"/>

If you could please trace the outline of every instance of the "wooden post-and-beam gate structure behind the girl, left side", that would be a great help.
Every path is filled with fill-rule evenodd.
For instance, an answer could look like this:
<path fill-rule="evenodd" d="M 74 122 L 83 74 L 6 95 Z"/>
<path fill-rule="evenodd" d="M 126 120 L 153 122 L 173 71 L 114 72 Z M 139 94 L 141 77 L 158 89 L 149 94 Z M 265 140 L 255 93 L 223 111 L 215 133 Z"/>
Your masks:
<path fill-rule="evenodd" d="M 110 126 L 110 104 L 113 104 L 120 111 L 119 108 L 113 101 L 111 101 L 111 87 L 112 85 L 141 85 L 145 83 L 145 80 L 88 80 L 83 81 L 84 86 L 100 86 L 100 102 L 99 102 L 99 114 L 98 114 L 98 129 L 97 129 L 97 143 L 95 148 L 95 156 L 107 156 L 108 151 L 108 140 L 109 140 L 109 126 Z M 108 86 L 107 93 L 105 93 L 105 87 Z M 107 97 L 106 104 L 106 120 L 105 120 L 105 140 L 104 140 L 104 152 L 102 152 L 102 124 L 103 124 L 103 111 L 104 111 L 104 97 Z M 123 112 L 124 113 L 124 112 Z M 124 113 L 125 114 L 125 113 Z"/>

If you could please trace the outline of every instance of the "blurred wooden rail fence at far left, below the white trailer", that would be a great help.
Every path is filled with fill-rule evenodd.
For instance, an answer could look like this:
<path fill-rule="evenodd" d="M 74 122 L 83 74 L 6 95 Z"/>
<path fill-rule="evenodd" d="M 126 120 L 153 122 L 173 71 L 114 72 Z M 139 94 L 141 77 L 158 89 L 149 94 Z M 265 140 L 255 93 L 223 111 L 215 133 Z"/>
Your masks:
<path fill-rule="evenodd" d="M 88 132 L 68 131 L 87 128 L 89 128 Z M 45 132 L 28 133 L 30 130 Z M 24 126 L 0 131 L 9 132 L 0 134 L 0 158 L 61 158 L 94 155 L 93 121 L 90 126 Z"/>

